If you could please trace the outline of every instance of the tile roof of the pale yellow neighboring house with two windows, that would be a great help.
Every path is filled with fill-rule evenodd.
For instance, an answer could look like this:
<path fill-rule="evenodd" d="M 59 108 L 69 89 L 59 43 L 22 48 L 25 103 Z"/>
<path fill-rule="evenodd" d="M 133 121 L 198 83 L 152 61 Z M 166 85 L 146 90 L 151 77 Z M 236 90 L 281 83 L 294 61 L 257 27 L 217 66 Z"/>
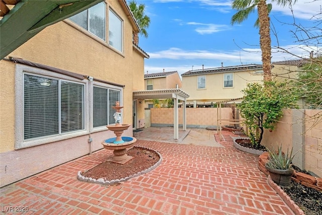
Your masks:
<path fill-rule="evenodd" d="M 193 76 L 193 75 L 200 75 L 200 74 L 222 73 L 227 71 L 245 71 L 245 70 L 260 70 L 260 69 L 263 69 L 262 64 L 224 66 L 224 67 L 216 67 L 216 68 L 190 70 L 182 74 L 181 76 Z"/>

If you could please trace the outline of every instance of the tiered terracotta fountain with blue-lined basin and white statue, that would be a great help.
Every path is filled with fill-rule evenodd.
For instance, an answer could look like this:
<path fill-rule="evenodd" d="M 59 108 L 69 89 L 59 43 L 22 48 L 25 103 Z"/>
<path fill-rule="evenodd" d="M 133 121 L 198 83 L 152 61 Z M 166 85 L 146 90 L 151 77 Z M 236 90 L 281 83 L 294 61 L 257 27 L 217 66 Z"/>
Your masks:
<path fill-rule="evenodd" d="M 114 113 L 115 125 L 106 126 L 109 130 L 114 131 L 116 137 L 106 139 L 102 142 L 105 149 L 114 150 L 114 156 L 111 159 L 108 159 L 108 161 L 118 164 L 125 164 L 133 158 L 126 154 L 126 148 L 132 147 L 136 142 L 136 138 L 134 137 L 121 136 L 124 130 L 130 126 L 130 124 L 120 124 L 122 108 L 120 102 L 117 101 L 115 106 L 113 106 L 113 109 L 116 110 Z"/>

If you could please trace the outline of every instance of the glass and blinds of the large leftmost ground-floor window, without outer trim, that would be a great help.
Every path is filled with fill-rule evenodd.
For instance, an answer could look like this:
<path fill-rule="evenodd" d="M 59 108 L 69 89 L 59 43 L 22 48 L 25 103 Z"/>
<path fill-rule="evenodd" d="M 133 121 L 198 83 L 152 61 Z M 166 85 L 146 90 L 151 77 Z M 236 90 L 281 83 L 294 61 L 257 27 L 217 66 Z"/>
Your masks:
<path fill-rule="evenodd" d="M 85 129 L 84 84 L 24 74 L 24 139 Z"/>

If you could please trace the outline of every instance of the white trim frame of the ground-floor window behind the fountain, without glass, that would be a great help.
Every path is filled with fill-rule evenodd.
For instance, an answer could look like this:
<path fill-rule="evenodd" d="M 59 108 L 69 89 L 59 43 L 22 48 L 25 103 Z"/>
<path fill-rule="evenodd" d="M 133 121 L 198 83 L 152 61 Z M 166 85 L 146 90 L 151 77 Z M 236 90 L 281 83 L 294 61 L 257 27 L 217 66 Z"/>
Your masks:
<path fill-rule="evenodd" d="M 90 104 L 91 104 L 91 108 L 90 108 L 90 116 L 91 116 L 91 125 L 90 125 L 90 129 L 91 129 L 91 133 L 93 132 L 99 132 L 99 131 L 103 131 L 103 130 L 106 130 L 106 126 L 101 126 L 101 127 L 96 127 L 94 128 L 93 127 L 93 106 L 94 106 L 94 98 L 93 98 L 93 95 L 94 95 L 94 87 L 102 87 L 102 88 L 109 88 L 109 89 L 113 89 L 113 90 L 119 90 L 120 91 L 120 106 L 123 106 L 123 88 L 122 87 L 117 87 L 117 86 L 114 86 L 114 85 L 109 85 L 109 84 L 105 84 L 105 83 L 102 83 L 102 82 L 90 82 L 90 90 L 89 90 L 89 95 L 90 95 Z M 122 109 L 121 109 L 122 111 Z M 123 111 L 122 111 L 123 112 Z M 123 121 L 123 114 L 121 113 L 121 121 Z"/>

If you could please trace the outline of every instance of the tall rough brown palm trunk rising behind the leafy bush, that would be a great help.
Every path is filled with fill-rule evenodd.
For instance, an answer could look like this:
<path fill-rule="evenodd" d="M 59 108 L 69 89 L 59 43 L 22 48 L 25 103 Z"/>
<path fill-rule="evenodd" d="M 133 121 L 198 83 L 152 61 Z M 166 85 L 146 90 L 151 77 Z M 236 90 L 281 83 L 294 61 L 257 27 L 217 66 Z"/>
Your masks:
<path fill-rule="evenodd" d="M 268 16 L 266 0 L 260 0 L 257 7 L 260 23 L 260 46 L 262 50 L 264 81 L 272 81 L 270 18 Z"/>

